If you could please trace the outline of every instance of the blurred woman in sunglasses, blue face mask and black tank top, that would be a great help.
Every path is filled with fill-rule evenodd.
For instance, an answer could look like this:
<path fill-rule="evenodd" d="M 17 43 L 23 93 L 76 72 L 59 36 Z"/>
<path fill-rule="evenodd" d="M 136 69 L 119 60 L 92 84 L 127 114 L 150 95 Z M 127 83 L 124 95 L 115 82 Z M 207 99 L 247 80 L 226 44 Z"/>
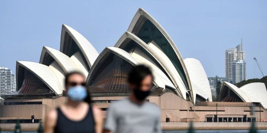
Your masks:
<path fill-rule="evenodd" d="M 66 75 L 66 104 L 48 113 L 45 133 L 101 133 L 101 110 L 90 104 L 85 77 L 80 72 Z"/>

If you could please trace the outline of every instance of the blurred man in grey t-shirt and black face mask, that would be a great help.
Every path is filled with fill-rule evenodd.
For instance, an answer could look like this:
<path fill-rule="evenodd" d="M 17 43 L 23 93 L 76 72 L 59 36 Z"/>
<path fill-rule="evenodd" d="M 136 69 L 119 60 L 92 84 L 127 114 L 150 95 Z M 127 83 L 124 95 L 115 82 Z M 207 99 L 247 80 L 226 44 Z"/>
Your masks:
<path fill-rule="evenodd" d="M 160 109 L 145 101 L 152 87 L 152 72 L 139 65 L 128 76 L 131 94 L 109 106 L 104 133 L 160 133 Z"/>

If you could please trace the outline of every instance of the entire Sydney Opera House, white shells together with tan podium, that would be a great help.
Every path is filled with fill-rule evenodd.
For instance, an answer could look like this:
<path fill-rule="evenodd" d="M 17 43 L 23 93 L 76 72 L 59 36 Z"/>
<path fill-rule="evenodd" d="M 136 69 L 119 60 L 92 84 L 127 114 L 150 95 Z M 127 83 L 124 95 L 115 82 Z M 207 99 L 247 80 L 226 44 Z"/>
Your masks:
<path fill-rule="evenodd" d="M 181 44 L 179 44 L 181 45 Z M 161 121 L 263 121 L 267 116 L 267 92 L 263 83 L 241 88 L 224 82 L 221 102 L 212 102 L 206 72 L 197 59 L 183 59 L 161 25 L 144 9 L 138 9 L 128 30 L 114 47 L 100 54 L 80 33 L 62 25 L 60 51 L 44 46 L 39 63 L 17 61 L 17 92 L 1 95 L 0 123 L 43 120 L 47 112 L 66 101 L 65 75 L 80 71 L 104 114 L 110 103 L 129 95 L 129 70 L 149 66 L 154 75 L 147 98 L 161 108 Z"/>

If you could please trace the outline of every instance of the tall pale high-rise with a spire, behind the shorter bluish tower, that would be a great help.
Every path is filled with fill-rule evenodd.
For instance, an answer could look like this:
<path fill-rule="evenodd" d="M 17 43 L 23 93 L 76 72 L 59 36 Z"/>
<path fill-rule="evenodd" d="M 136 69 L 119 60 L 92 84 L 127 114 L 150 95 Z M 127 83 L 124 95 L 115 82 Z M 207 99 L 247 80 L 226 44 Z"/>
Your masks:
<path fill-rule="evenodd" d="M 229 48 L 225 51 L 225 77 L 228 77 L 231 83 L 233 83 L 233 63 L 236 60 L 245 60 L 242 40 L 236 48 Z"/>

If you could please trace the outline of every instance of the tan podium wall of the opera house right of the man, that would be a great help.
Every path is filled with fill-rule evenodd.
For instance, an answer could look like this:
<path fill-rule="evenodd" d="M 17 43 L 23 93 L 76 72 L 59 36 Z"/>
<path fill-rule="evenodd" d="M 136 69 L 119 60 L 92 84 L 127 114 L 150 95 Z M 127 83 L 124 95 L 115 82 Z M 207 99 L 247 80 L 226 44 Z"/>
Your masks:
<path fill-rule="evenodd" d="M 192 102 L 186 101 L 173 93 L 164 93 L 160 96 L 160 108 L 162 110 L 161 121 L 166 121 L 169 118 L 170 121 L 183 121 L 183 119 L 194 119 L 197 121 L 205 121 L 206 115 L 218 115 L 218 117 L 256 117 L 257 121 L 263 121 L 267 118 L 267 111 L 260 107 L 255 107 L 254 115 L 250 115 L 249 107 L 245 107 L 246 104 L 241 102 L 205 102 L 207 105 L 220 104 L 225 106 L 194 106 Z M 240 107 L 235 107 L 239 105 Z M 243 107 L 242 107 L 243 106 Z M 261 118 L 261 119 L 260 119 Z"/>

